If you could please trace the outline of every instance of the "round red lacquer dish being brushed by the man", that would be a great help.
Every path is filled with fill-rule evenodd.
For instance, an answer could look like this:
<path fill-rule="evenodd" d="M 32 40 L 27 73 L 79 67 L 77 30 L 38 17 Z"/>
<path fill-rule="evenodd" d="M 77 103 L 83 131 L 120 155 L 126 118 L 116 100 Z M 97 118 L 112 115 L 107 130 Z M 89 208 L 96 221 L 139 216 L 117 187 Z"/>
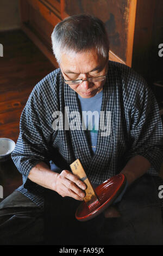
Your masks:
<path fill-rule="evenodd" d="M 78 221 L 89 221 L 91 218 L 101 214 L 109 205 L 111 205 L 118 195 L 122 192 L 126 184 L 126 177 L 123 174 L 117 174 L 112 178 L 105 180 L 101 185 L 95 188 L 96 195 L 100 205 L 89 209 L 83 201 L 77 211 L 76 218 Z"/>

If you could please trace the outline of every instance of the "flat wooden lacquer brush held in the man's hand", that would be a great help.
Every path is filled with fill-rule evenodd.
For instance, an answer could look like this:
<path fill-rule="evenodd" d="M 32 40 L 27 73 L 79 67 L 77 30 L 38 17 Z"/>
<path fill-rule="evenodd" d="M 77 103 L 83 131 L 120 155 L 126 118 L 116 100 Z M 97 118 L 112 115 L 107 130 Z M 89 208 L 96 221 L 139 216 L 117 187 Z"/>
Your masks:
<path fill-rule="evenodd" d="M 85 190 L 86 195 L 84 197 L 84 201 L 87 204 L 88 208 L 92 209 L 92 208 L 96 207 L 97 205 L 100 205 L 98 197 L 97 197 L 95 191 L 93 190 L 93 187 L 92 187 L 89 179 L 87 178 L 86 173 L 85 173 L 79 159 L 74 161 L 70 165 L 70 167 L 71 167 L 72 173 L 74 175 L 77 175 L 80 180 L 84 181 L 84 183 L 87 186 L 87 188 Z"/>

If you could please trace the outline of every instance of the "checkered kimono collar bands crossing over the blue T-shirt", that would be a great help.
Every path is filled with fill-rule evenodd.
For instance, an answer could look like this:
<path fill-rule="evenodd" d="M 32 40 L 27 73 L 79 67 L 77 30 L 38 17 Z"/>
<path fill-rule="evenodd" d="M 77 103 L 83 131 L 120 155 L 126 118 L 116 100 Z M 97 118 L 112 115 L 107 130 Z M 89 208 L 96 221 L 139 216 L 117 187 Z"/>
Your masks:
<path fill-rule="evenodd" d="M 108 69 L 108 75 L 106 76 L 106 81 L 103 87 L 103 99 L 102 99 L 102 106 L 101 112 L 106 114 L 106 111 L 110 113 L 110 131 L 107 136 L 103 136 L 104 130 L 101 130 L 100 123 L 99 123 L 99 130 L 98 130 L 98 138 L 97 138 L 97 148 L 95 155 L 91 155 L 91 145 L 89 145 L 86 133 L 82 130 L 82 113 L 80 113 L 79 108 L 79 99 L 78 95 L 74 90 L 72 90 L 67 84 L 64 83 L 64 99 L 65 99 L 65 106 L 68 109 L 67 117 L 70 113 L 74 111 L 80 113 L 80 117 L 76 118 L 77 127 L 79 129 L 72 130 L 70 129 L 70 137 L 72 141 L 72 147 L 74 152 L 74 161 L 79 159 L 82 163 L 82 166 L 91 180 L 91 182 L 96 182 L 96 172 L 103 173 L 105 168 L 108 168 L 109 159 L 111 159 L 112 151 L 111 151 L 111 143 L 112 143 L 112 123 L 114 118 L 114 106 L 115 106 L 115 92 L 114 92 L 114 84 L 113 81 L 114 77 L 110 74 L 112 70 Z M 68 117 L 70 123 L 71 118 Z M 99 119 L 100 122 L 101 118 Z M 105 118 L 105 125 L 106 125 L 106 118 Z"/>

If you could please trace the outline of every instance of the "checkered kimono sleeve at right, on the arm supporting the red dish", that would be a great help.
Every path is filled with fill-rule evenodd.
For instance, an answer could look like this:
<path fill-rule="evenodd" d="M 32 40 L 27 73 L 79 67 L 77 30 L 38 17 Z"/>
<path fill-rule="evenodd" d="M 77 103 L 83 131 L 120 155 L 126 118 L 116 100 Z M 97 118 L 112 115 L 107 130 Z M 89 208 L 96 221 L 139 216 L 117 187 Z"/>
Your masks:
<path fill-rule="evenodd" d="M 157 175 L 163 161 L 162 121 L 158 103 L 148 86 L 142 81 L 131 107 L 130 157 L 141 155 L 150 163 L 148 173 Z"/>

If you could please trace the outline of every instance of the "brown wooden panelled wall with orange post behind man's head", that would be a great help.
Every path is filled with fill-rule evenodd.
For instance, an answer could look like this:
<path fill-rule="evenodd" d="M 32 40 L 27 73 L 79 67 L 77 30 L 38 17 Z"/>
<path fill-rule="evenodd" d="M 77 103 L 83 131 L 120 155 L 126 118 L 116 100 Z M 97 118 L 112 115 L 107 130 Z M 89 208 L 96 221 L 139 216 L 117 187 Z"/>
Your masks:
<path fill-rule="evenodd" d="M 20 0 L 21 27 L 57 67 L 51 45 L 54 26 L 73 14 L 95 15 L 105 22 L 110 59 L 131 66 L 152 86 L 162 79 L 162 8 L 162 0 Z"/>

